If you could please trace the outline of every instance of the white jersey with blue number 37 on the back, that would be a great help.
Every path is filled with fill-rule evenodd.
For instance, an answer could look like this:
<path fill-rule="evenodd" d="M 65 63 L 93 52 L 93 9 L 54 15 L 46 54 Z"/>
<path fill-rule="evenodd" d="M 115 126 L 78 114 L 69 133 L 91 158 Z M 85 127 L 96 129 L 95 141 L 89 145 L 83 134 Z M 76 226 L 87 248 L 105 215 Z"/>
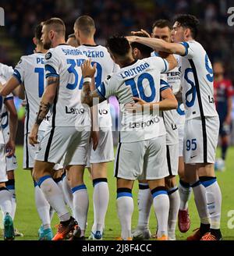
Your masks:
<path fill-rule="evenodd" d="M 59 77 L 51 113 L 52 126 L 90 126 L 90 108 L 80 101 L 83 85 L 80 66 L 85 59 L 79 49 L 67 44 L 59 44 L 45 55 L 45 77 Z"/>

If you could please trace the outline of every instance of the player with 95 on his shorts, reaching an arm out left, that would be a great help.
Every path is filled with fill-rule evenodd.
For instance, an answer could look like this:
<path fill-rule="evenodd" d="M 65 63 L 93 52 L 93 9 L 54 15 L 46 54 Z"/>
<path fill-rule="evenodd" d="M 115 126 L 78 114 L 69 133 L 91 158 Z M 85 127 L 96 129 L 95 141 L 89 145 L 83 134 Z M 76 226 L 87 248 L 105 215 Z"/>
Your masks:
<path fill-rule="evenodd" d="M 187 240 L 222 240 L 220 231 L 222 194 L 215 177 L 215 151 L 218 144 L 219 120 L 215 110 L 213 70 L 200 43 L 195 16 L 181 15 L 173 25 L 168 43 L 155 38 L 129 37 L 157 51 L 181 55 L 183 103 L 186 124 L 183 156 L 185 176 L 193 187 L 200 229 Z"/>

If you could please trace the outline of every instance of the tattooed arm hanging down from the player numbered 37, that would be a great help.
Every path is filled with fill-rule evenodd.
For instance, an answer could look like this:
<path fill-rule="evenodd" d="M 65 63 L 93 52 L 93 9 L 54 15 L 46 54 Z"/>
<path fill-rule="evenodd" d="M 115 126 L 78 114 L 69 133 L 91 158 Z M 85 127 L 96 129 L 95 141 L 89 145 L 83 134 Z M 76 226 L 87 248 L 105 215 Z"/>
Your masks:
<path fill-rule="evenodd" d="M 41 122 L 44 120 L 45 116 L 48 114 L 51 105 L 54 102 L 55 94 L 59 84 L 59 76 L 48 76 L 47 87 L 44 90 L 44 94 L 41 98 L 40 107 L 37 113 L 37 118 L 34 126 L 30 132 L 29 142 L 31 145 L 38 144 L 37 133 Z"/>

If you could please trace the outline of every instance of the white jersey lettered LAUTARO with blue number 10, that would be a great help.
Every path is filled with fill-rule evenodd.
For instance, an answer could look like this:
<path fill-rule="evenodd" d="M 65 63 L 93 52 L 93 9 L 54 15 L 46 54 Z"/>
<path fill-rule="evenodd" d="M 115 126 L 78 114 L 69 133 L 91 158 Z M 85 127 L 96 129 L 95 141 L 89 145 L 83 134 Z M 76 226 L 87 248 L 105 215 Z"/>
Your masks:
<path fill-rule="evenodd" d="M 133 96 L 144 101 L 160 101 L 160 74 L 167 69 L 167 63 L 161 58 L 147 58 L 133 62 L 108 78 L 98 91 L 105 98 L 115 95 L 120 105 L 122 116 L 121 142 L 148 140 L 165 134 L 161 116 L 149 109 L 141 113 L 126 112 L 125 105 L 133 103 Z M 105 85 L 106 84 L 106 85 Z"/>

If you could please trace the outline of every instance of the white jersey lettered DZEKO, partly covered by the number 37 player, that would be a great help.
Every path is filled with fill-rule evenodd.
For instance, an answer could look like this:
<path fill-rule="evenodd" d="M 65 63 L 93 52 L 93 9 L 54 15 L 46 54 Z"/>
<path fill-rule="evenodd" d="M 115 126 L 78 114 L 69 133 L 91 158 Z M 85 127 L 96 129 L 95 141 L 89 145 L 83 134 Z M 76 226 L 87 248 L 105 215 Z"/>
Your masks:
<path fill-rule="evenodd" d="M 119 70 L 119 66 L 113 62 L 111 55 L 104 46 L 83 44 L 80 45 L 78 49 L 80 49 L 88 59 L 92 60 L 92 64 L 96 63 L 97 71 L 94 76 L 96 88 L 108 75 Z M 100 127 L 112 126 L 112 117 L 107 101 L 103 101 L 98 105 L 98 117 Z"/>

